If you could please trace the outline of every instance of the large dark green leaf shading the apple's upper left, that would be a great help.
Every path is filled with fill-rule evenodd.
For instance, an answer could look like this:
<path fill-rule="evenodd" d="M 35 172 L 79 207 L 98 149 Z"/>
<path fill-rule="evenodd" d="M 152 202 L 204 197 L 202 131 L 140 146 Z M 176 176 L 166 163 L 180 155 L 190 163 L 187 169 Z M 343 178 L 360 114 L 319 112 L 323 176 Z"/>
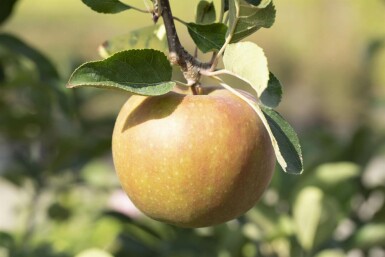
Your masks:
<path fill-rule="evenodd" d="M 81 65 L 67 87 L 115 88 L 140 95 L 162 95 L 175 85 L 167 57 L 153 49 L 127 50 Z"/>

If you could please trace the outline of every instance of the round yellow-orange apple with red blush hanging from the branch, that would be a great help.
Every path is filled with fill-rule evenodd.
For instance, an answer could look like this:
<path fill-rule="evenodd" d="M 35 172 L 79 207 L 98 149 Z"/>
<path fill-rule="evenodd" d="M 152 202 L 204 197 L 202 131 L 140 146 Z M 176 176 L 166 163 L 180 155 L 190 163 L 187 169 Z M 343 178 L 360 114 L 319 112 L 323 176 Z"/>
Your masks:
<path fill-rule="evenodd" d="M 179 227 L 234 219 L 259 200 L 275 156 L 255 111 L 224 89 L 132 96 L 116 120 L 120 183 L 147 216 Z"/>

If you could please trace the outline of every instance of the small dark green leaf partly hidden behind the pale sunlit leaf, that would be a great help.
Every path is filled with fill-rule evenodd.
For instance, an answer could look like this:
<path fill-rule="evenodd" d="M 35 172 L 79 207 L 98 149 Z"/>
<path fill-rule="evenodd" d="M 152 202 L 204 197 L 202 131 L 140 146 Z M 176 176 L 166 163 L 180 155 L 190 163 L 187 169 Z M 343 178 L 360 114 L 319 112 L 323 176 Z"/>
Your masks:
<path fill-rule="evenodd" d="M 269 74 L 269 82 L 267 88 L 262 92 L 260 100 L 263 105 L 270 108 L 276 108 L 282 99 L 282 86 L 281 82 L 274 76 L 273 73 Z"/>

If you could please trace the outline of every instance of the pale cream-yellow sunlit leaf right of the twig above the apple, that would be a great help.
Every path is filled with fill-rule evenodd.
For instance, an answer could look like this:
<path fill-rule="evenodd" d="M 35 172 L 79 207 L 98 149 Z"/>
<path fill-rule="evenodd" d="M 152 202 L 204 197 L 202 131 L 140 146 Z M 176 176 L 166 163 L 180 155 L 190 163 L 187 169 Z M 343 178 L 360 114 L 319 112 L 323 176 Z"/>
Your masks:
<path fill-rule="evenodd" d="M 261 97 L 269 81 L 267 59 L 262 48 L 251 42 L 230 44 L 223 63 L 226 70 L 248 82 Z"/>

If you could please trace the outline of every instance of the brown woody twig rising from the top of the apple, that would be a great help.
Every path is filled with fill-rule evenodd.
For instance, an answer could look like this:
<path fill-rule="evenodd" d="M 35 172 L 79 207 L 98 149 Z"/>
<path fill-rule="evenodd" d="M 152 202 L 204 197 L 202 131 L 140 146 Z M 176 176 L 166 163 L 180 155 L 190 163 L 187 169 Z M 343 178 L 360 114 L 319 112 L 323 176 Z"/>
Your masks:
<path fill-rule="evenodd" d="M 178 33 L 175 28 L 174 17 L 172 15 L 169 0 L 159 0 L 162 10 L 162 18 L 166 28 L 169 60 L 172 65 L 178 65 L 187 80 L 187 84 L 192 86 L 193 92 L 199 93 L 199 80 L 201 71 L 207 71 L 211 68 L 212 63 L 199 61 L 196 57 L 187 52 L 180 43 Z M 195 94 L 195 93 L 194 93 Z"/>

